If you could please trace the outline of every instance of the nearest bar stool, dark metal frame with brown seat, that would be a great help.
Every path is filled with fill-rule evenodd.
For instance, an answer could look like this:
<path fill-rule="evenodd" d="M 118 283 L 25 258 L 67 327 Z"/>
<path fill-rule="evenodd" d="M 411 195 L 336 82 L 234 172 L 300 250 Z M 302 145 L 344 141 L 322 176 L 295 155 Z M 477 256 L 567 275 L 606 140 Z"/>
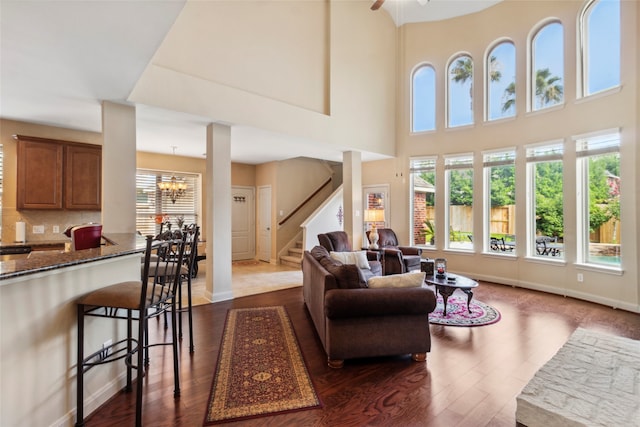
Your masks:
<path fill-rule="evenodd" d="M 151 252 L 155 250 L 154 261 Z M 178 338 L 176 325 L 176 289 L 180 283 L 180 266 L 184 255 L 184 240 L 173 239 L 154 242 L 146 238 L 141 280 L 121 282 L 89 292 L 76 301 L 78 315 L 77 354 L 77 419 L 76 427 L 84 426 L 84 374 L 89 369 L 105 363 L 124 359 L 127 366 L 125 390 L 131 391 L 132 371 L 136 370 L 136 426 L 142 425 L 142 385 L 144 355 L 149 347 L 171 345 L 173 348 L 174 397 L 180 396 L 178 369 Z M 154 271 L 150 275 L 150 270 Z M 151 280 L 153 278 L 153 280 Z M 149 344 L 148 320 L 166 312 L 171 313 L 171 341 Z M 123 313 L 124 312 L 124 313 Z M 134 312 L 137 317 L 134 317 Z M 125 319 L 127 337 L 106 349 L 84 356 L 84 318 L 86 316 Z M 138 334 L 134 338 L 132 323 L 138 321 Z M 146 350 L 146 351 L 144 351 Z M 109 354 L 110 352 L 110 354 Z M 148 353 L 147 353 L 148 354 Z M 134 363 L 134 355 L 136 361 Z M 105 357 L 106 356 L 106 357 Z"/>

